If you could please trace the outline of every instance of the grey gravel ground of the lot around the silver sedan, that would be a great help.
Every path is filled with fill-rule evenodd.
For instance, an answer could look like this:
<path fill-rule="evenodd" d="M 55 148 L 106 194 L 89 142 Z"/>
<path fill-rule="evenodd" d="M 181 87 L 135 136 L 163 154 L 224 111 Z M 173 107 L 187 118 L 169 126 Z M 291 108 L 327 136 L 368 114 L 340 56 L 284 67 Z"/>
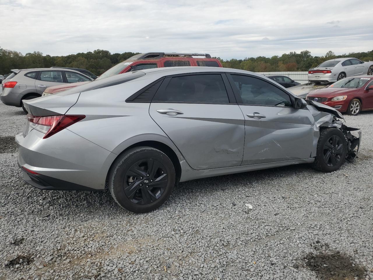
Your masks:
<path fill-rule="evenodd" d="M 0 116 L 0 279 L 373 279 L 373 112 L 346 116 L 362 147 L 336 172 L 189 181 L 147 214 L 25 184 L 12 140 L 25 115 Z"/>

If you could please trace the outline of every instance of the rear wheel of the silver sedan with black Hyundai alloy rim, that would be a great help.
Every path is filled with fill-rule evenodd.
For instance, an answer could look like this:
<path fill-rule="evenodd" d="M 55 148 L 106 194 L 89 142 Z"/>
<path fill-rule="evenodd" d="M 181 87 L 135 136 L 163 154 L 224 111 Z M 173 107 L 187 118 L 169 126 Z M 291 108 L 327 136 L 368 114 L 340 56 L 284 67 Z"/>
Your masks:
<path fill-rule="evenodd" d="M 108 181 L 116 203 L 128 211 L 144 213 L 167 200 L 175 177 L 175 168 L 165 153 L 153 147 L 135 147 L 113 163 Z"/>

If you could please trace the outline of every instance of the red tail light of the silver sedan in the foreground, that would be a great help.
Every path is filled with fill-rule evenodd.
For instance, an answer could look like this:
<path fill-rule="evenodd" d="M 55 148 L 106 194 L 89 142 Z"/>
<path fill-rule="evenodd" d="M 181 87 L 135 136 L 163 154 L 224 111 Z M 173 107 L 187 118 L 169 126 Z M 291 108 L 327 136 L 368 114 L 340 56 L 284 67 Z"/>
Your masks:
<path fill-rule="evenodd" d="M 75 124 L 85 118 L 85 115 L 59 115 L 59 116 L 32 116 L 27 115 L 30 127 L 45 133 L 43 139 L 63 130 L 64 128 Z"/>

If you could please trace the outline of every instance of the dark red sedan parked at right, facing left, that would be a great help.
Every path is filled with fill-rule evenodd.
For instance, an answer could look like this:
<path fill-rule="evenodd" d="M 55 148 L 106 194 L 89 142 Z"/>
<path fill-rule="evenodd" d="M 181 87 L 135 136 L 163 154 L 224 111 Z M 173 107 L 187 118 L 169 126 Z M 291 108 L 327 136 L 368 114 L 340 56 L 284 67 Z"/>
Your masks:
<path fill-rule="evenodd" d="M 339 112 L 357 115 L 373 110 L 373 76 L 355 76 L 308 93 L 306 99 L 323 103 Z"/>

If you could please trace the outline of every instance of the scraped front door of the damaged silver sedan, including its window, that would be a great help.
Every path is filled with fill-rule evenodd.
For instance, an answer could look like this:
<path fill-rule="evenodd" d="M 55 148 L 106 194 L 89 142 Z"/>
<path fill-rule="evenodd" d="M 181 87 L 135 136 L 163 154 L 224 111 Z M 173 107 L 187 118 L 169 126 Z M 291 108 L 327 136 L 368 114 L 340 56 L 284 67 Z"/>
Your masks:
<path fill-rule="evenodd" d="M 259 77 L 227 74 L 245 118 L 242 165 L 310 158 L 313 116 L 294 97 Z"/>

